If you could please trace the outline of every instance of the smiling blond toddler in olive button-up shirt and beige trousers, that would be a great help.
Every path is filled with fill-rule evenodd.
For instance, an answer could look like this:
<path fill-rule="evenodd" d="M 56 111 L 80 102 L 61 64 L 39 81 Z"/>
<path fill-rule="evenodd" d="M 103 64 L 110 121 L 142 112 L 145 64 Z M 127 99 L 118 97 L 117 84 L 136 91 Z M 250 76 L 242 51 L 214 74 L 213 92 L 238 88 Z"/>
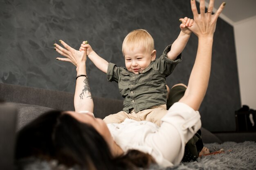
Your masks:
<path fill-rule="evenodd" d="M 172 45 L 166 47 L 158 59 L 152 36 L 144 29 L 131 31 L 122 47 L 126 68 L 107 62 L 92 50 L 90 44 L 81 44 L 80 51 L 87 51 L 95 66 L 107 73 L 108 81 L 118 83 L 119 91 L 124 97 L 123 110 L 103 119 L 107 124 L 121 123 L 126 118 L 160 124 L 167 112 L 166 77 L 182 61 L 181 52 L 191 34 L 187 27 L 192 24 L 192 19 L 184 18 L 184 23 L 180 25 L 180 35 Z"/>

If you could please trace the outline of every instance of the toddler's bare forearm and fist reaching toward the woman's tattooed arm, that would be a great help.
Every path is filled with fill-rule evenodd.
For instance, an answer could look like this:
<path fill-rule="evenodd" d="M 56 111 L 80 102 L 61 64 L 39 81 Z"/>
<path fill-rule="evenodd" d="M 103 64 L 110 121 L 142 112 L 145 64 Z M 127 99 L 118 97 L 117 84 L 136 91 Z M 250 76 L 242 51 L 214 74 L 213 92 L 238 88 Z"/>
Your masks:
<path fill-rule="evenodd" d="M 90 44 L 87 43 L 87 41 L 84 41 L 83 44 L 81 44 L 81 47 L 79 51 L 87 50 L 87 55 L 90 58 L 90 60 L 93 62 L 97 68 L 99 68 L 104 73 L 107 73 L 108 71 L 108 62 L 104 60 L 102 57 L 100 57 L 95 51 L 93 51 Z"/>

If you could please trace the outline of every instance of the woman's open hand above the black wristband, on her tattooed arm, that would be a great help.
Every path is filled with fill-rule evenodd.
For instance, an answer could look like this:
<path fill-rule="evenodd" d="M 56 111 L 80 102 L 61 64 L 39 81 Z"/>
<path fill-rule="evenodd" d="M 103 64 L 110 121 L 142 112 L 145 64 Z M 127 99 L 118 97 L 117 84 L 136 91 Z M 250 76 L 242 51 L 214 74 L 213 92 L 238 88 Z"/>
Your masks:
<path fill-rule="evenodd" d="M 86 51 L 77 51 L 66 44 L 64 41 L 59 40 L 61 44 L 65 47 L 61 47 L 58 44 L 54 44 L 56 47 L 54 48 L 59 54 L 63 55 L 66 58 L 57 57 L 56 60 L 61 60 L 65 62 L 71 62 L 76 67 L 79 64 L 85 64 L 86 62 Z"/>

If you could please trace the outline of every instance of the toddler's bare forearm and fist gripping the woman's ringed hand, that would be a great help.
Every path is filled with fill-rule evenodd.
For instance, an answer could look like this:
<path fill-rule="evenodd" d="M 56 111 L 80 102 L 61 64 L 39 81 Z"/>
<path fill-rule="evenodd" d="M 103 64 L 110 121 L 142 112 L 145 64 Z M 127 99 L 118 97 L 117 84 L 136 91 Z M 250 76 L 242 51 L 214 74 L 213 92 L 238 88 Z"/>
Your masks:
<path fill-rule="evenodd" d="M 191 31 L 188 29 L 189 26 L 193 25 L 194 20 L 190 18 L 181 18 L 180 21 L 183 23 L 180 24 L 180 35 L 173 42 L 171 50 L 167 53 L 167 56 L 171 60 L 176 60 L 177 56 L 183 51 L 186 46 L 186 43 L 189 40 Z"/>

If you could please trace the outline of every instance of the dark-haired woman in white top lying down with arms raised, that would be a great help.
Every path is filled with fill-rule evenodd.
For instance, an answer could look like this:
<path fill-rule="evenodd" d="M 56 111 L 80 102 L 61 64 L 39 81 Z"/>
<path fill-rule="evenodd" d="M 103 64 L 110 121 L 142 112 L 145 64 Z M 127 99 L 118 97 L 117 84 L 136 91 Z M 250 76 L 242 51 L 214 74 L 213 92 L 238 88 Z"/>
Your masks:
<path fill-rule="evenodd" d="M 181 162 L 186 142 L 201 127 L 200 104 L 207 90 L 216 21 L 225 3 L 212 15 L 191 0 L 194 23 L 189 29 L 198 36 L 198 52 L 184 96 L 168 110 L 160 127 L 149 121 L 126 119 L 121 124 L 106 125 L 95 118 L 93 101 L 86 76 L 86 51 L 65 47 L 56 51 L 76 66 L 74 105 L 76 112 L 45 113 L 22 128 L 17 135 L 16 159 L 36 157 L 56 160 L 67 167 L 88 170 L 124 170 L 160 167 Z M 213 9 L 213 0 L 209 8 Z M 202 12 L 203 10 L 203 12 Z M 83 91 L 87 89 L 86 91 Z M 79 95 L 83 93 L 81 99 Z M 79 113 L 80 112 L 80 113 Z"/>

